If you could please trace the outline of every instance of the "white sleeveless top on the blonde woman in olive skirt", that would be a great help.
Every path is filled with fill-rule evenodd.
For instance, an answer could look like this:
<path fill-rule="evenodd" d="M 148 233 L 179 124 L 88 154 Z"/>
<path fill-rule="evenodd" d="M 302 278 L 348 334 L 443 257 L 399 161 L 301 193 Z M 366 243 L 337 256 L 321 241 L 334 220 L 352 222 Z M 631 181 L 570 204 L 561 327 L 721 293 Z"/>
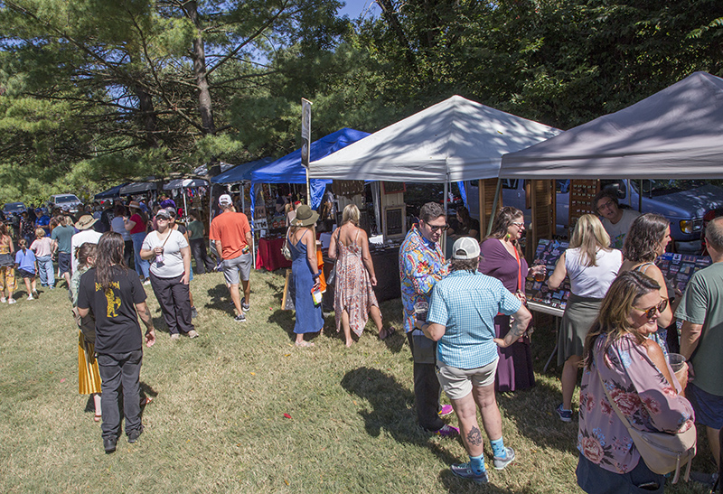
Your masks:
<path fill-rule="evenodd" d="M 581 297 L 605 297 L 623 264 L 623 253 L 616 248 L 600 249 L 596 254 L 596 264 L 597 266 L 584 266 L 579 247 L 565 251 L 565 269 L 568 271 L 570 291 L 573 294 Z"/>

